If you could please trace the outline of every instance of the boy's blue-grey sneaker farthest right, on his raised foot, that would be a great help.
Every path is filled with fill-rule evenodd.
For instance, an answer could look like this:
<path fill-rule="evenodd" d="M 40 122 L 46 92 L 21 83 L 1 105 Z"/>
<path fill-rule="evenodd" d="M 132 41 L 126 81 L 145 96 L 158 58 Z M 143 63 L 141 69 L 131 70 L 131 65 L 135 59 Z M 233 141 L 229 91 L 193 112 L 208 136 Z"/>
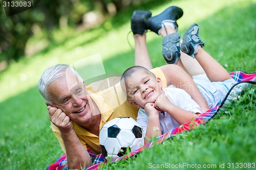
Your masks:
<path fill-rule="evenodd" d="M 194 23 L 183 35 L 183 42 L 181 43 L 180 50 L 195 58 L 195 55 L 198 53 L 198 45 L 203 47 L 204 43 L 199 37 L 199 27 Z"/>

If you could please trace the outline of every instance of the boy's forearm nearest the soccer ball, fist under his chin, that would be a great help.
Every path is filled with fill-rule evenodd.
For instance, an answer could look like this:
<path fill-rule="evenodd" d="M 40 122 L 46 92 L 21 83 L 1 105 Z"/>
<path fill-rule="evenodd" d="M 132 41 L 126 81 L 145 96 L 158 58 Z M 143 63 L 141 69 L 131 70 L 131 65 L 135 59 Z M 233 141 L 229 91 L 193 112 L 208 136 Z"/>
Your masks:
<path fill-rule="evenodd" d="M 145 105 L 145 112 L 148 115 L 148 123 L 146 128 L 146 136 L 144 138 L 145 144 L 152 138 L 161 135 L 161 127 L 159 120 L 159 112 L 154 108 L 154 104 L 147 103 Z"/>

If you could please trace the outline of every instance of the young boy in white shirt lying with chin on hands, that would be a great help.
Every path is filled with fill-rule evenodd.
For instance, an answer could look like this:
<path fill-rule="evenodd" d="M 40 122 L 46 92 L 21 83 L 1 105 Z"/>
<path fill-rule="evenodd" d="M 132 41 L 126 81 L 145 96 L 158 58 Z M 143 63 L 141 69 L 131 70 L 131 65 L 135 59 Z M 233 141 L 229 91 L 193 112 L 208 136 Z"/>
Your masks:
<path fill-rule="evenodd" d="M 228 90 L 237 82 L 208 53 L 198 35 L 198 25 L 192 25 L 184 34 L 181 51 L 193 58 L 196 57 L 209 80 L 202 76 L 194 78 L 209 108 L 223 101 Z M 179 46 L 179 35 L 173 33 L 163 38 L 163 56 L 173 57 L 174 64 L 182 65 L 180 55 L 168 46 Z M 178 43 L 177 43 L 178 41 Z M 168 45 L 165 45 L 168 44 Z M 167 50 L 166 50 L 167 49 Z M 172 56 L 170 56 L 172 54 Z M 189 94 L 178 88 L 162 89 L 161 79 L 141 66 L 134 66 L 124 71 L 122 82 L 125 84 L 127 99 L 130 104 L 140 108 L 137 122 L 143 129 L 145 143 L 151 137 L 171 131 L 179 125 L 190 122 L 201 114 L 200 107 Z M 161 131 L 160 131 L 161 130 Z"/>

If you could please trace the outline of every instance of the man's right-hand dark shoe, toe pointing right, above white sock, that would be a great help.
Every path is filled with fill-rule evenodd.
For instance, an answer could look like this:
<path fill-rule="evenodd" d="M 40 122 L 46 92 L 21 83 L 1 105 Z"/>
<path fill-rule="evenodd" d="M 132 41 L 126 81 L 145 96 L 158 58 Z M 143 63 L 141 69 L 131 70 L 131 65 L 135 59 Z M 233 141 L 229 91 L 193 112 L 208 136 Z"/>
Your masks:
<path fill-rule="evenodd" d="M 159 34 L 159 30 L 162 28 L 162 21 L 165 20 L 173 22 L 174 26 L 176 27 L 175 30 L 177 31 L 178 24 L 176 20 L 182 17 L 182 15 L 183 10 L 181 8 L 175 6 L 168 7 L 159 15 L 148 18 L 146 27 L 148 30 L 151 30 L 156 34 Z"/>

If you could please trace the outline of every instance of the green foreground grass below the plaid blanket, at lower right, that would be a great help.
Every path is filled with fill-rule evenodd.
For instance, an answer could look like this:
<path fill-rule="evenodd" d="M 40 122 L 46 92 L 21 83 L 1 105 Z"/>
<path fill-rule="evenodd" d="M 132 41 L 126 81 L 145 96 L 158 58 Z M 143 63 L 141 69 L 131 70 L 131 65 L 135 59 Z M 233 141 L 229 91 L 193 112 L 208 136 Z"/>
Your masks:
<path fill-rule="evenodd" d="M 234 167 L 236 163 L 255 163 L 255 100 L 256 93 L 249 87 L 240 100 L 227 108 L 228 112 L 218 113 L 206 125 L 177 134 L 161 144 L 155 143 L 135 160 L 122 160 L 101 169 L 148 169 L 161 164 L 163 167 L 185 164 L 176 169 L 194 169 L 189 165 L 195 164 L 199 167 L 195 169 L 204 165 L 211 167 L 208 169 L 221 169 L 223 163 L 228 169 L 228 163 L 234 163 Z"/>

